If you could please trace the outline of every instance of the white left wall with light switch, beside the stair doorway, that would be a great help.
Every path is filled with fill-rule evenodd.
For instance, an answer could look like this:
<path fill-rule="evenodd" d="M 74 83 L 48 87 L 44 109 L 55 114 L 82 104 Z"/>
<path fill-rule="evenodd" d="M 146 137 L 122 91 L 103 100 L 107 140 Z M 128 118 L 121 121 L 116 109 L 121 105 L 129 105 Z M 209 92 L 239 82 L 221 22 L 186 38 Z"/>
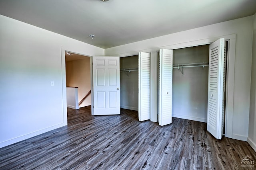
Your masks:
<path fill-rule="evenodd" d="M 104 55 L 104 49 L 1 15 L 0 23 L 0 147 L 4 147 L 67 124 L 61 46 L 88 56 Z"/>

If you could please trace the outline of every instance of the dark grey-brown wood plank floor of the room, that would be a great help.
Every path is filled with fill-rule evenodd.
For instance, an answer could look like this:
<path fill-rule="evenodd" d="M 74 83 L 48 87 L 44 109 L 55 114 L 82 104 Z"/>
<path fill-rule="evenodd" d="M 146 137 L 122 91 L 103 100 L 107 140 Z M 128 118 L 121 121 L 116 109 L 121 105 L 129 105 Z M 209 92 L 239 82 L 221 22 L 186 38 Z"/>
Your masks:
<path fill-rule="evenodd" d="M 68 126 L 0 149 L 0 169 L 241 169 L 256 152 L 247 142 L 216 140 L 206 123 L 172 118 L 172 124 L 138 121 L 138 112 L 92 116 L 68 109 Z M 254 165 L 254 168 L 256 165 Z"/>

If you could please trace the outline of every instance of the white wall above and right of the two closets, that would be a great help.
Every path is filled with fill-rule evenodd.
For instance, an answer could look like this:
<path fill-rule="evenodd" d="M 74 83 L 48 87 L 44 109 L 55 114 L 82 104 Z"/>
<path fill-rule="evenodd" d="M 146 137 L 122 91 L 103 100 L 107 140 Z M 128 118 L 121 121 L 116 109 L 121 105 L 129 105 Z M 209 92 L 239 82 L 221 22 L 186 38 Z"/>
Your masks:
<path fill-rule="evenodd" d="M 231 56 L 234 64 L 234 107 L 231 121 L 231 136 L 234 139 L 247 140 L 250 106 L 250 80 L 252 61 L 252 24 L 253 16 L 216 23 L 196 29 L 190 29 L 161 37 L 138 41 L 105 49 L 105 55 L 128 56 L 139 51 L 154 52 L 160 48 L 175 49 L 210 43 L 224 35 L 236 34 L 235 56 Z M 235 57 L 235 58 L 234 58 Z M 232 83 L 232 82 L 230 82 Z M 230 90 L 230 89 L 229 89 Z M 229 104 L 229 103 L 228 103 Z"/>

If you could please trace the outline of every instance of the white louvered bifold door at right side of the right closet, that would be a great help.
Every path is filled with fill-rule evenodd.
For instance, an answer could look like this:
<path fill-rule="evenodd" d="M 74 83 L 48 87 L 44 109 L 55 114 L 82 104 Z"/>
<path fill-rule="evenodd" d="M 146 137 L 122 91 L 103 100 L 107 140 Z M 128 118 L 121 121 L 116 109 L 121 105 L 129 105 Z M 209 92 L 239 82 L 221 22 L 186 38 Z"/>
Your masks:
<path fill-rule="evenodd" d="M 207 131 L 221 139 L 224 127 L 225 40 L 215 41 L 209 49 Z"/>

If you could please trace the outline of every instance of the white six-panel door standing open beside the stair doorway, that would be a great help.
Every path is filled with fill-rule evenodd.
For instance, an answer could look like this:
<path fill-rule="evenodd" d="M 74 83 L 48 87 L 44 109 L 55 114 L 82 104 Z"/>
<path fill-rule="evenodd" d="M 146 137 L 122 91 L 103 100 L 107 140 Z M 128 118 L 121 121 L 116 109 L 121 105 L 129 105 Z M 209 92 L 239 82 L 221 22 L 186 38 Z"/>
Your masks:
<path fill-rule="evenodd" d="M 92 57 L 92 115 L 120 114 L 119 57 Z"/>

